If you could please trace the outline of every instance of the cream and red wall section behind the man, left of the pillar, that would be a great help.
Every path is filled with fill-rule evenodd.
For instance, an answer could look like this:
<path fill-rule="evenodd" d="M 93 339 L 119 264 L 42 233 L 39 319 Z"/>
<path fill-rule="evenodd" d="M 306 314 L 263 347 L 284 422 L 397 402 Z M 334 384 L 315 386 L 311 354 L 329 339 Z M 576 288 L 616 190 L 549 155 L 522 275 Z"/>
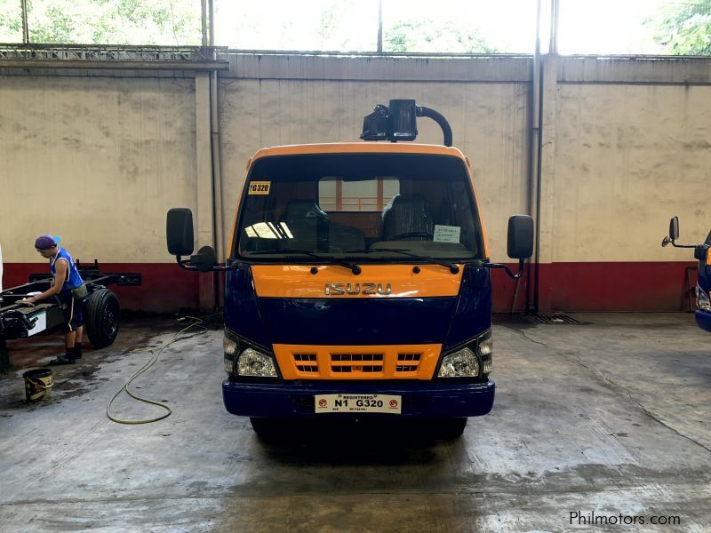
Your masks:
<path fill-rule="evenodd" d="M 52 233 L 75 259 L 142 272 L 146 290 L 122 290 L 124 305 L 195 306 L 158 267 L 171 260 L 165 211 L 196 207 L 195 115 L 191 79 L 2 78 L 4 285 L 47 270 L 34 240 Z"/>

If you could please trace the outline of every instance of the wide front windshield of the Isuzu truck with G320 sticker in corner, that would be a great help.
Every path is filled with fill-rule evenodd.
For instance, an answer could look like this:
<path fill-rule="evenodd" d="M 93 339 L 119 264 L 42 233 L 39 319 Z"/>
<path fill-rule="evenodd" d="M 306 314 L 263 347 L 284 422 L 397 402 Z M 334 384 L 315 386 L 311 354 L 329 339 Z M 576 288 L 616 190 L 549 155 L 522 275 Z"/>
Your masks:
<path fill-rule="evenodd" d="M 405 251 L 483 259 L 479 215 L 459 157 L 268 156 L 253 164 L 245 187 L 235 257 L 317 261 L 311 253 L 411 262 Z"/>

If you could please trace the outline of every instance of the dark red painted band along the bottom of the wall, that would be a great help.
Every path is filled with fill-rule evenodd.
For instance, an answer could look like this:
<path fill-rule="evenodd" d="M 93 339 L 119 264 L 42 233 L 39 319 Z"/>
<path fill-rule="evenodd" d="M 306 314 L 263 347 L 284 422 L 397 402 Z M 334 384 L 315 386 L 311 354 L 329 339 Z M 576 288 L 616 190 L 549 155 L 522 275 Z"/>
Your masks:
<path fill-rule="evenodd" d="M 693 262 L 553 263 L 539 266 L 539 312 L 575 311 L 685 311 L 689 308 L 687 267 Z M 143 274 L 141 287 L 116 287 L 124 309 L 175 313 L 199 306 L 200 276 L 174 263 L 102 263 L 104 272 Z M 509 264 L 514 272 L 518 265 Z M 28 274 L 49 275 L 44 263 L 5 263 L 4 288 L 28 281 Z M 221 274 L 220 274 L 221 277 Z M 516 281 L 502 270 L 492 270 L 494 312 L 509 313 Z M 696 273 L 690 275 L 691 287 Z M 519 282 L 515 312 L 526 310 L 526 293 L 532 280 Z"/>

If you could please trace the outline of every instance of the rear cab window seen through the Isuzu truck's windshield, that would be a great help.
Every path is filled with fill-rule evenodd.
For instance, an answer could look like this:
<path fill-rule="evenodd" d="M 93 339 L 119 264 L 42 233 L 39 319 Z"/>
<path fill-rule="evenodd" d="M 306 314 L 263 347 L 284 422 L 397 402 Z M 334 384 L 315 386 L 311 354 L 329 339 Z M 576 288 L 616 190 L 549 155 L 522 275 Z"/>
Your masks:
<path fill-rule="evenodd" d="M 359 181 L 327 176 L 318 182 L 318 203 L 327 212 L 380 212 L 399 193 L 399 179 L 390 176 Z"/>

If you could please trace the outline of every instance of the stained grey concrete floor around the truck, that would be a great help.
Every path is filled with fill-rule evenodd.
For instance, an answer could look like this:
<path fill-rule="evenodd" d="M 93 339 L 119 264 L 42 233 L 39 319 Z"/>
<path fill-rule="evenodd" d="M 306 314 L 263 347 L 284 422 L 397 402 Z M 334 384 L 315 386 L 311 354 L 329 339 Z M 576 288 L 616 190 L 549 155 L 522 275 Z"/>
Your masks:
<path fill-rule="evenodd" d="M 362 425 L 261 442 L 222 407 L 220 330 L 171 346 L 135 382 L 171 417 L 123 426 L 106 407 L 150 357 L 132 348 L 184 322 L 125 322 L 32 404 L 22 371 L 60 337 L 12 341 L 0 530 L 711 531 L 711 337 L 691 314 L 572 316 L 588 323 L 499 321 L 494 409 L 455 442 Z M 160 414 L 125 395 L 115 410 Z M 571 523 L 574 512 L 637 525 Z"/>

